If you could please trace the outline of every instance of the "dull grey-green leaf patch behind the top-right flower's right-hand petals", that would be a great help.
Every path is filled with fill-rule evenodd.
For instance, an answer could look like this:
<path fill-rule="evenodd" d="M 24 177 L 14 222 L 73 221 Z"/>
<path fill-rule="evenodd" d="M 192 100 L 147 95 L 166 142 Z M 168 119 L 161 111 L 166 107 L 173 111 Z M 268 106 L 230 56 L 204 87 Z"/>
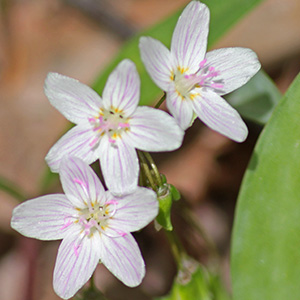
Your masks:
<path fill-rule="evenodd" d="M 265 124 L 281 97 L 274 82 L 261 70 L 226 100 L 246 119 Z"/>

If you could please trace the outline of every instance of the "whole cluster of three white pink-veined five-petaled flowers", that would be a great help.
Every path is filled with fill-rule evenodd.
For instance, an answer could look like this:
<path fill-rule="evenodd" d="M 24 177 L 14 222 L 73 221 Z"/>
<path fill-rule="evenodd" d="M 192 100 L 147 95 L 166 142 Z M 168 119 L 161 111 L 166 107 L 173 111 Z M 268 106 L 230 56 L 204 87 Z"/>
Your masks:
<path fill-rule="evenodd" d="M 260 68 L 253 51 L 219 49 L 206 53 L 209 10 L 192 1 L 179 18 L 169 51 L 161 42 L 140 39 L 142 61 L 166 93 L 170 116 L 138 107 L 140 79 L 130 60 L 109 76 L 102 98 L 75 79 L 50 73 L 50 103 L 77 124 L 49 151 L 46 161 L 59 172 L 65 194 L 41 196 L 17 206 L 11 226 L 41 240 L 62 239 L 54 269 L 54 289 L 68 299 L 102 262 L 124 284 L 141 283 L 145 265 L 131 232 L 158 213 L 156 193 L 138 186 L 141 151 L 181 146 L 194 113 L 209 127 L 242 142 L 247 127 L 221 97 L 245 84 Z M 105 191 L 89 167 L 100 160 Z"/>

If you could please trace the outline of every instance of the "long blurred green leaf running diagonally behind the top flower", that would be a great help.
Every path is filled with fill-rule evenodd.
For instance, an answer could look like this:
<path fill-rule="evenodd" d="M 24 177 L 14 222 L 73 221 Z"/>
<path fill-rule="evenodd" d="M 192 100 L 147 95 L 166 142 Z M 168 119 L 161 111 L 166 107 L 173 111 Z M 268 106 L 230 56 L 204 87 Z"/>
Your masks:
<path fill-rule="evenodd" d="M 203 2 L 209 7 L 211 14 L 210 33 L 208 39 L 208 47 L 211 47 L 244 14 L 251 10 L 256 4 L 261 2 L 261 0 L 206 0 Z M 140 33 L 125 43 L 119 54 L 97 78 L 93 88 L 99 94 L 102 94 L 105 82 L 111 71 L 121 60 L 129 58 L 135 62 L 141 77 L 142 85 L 140 104 L 151 105 L 155 99 L 158 99 L 162 92 L 152 82 L 143 66 L 143 63 L 141 62 L 138 48 L 139 38 L 140 36 L 152 36 L 169 47 L 174 27 L 181 12 L 182 9 L 160 24 Z"/>

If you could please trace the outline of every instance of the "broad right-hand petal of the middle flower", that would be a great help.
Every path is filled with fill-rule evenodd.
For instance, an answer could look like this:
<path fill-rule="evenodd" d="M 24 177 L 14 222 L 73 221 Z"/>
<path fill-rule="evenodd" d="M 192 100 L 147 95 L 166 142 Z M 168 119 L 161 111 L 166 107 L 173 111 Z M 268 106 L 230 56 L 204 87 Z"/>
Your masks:
<path fill-rule="evenodd" d="M 172 151 L 182 144 L 184 132 L 175 119 L 152 107 L 138 107 L 130 119 L 126 139 L 143 151 Z"/>

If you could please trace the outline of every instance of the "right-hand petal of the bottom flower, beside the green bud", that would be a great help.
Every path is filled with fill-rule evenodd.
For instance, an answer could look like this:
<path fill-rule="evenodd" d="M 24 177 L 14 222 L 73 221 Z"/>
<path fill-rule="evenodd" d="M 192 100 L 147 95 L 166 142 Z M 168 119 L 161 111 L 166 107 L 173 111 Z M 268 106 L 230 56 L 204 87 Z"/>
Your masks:
<path fill-rule="evenodd" d="M 147 188 L 137 187 L 134 193 L 124 197 L 108 195 L 107 198 L 116 201 L 116 213 L 110 220 L 109 229 L 120 234 L 142 229 L 158 214 L 156 194 Z"/>

